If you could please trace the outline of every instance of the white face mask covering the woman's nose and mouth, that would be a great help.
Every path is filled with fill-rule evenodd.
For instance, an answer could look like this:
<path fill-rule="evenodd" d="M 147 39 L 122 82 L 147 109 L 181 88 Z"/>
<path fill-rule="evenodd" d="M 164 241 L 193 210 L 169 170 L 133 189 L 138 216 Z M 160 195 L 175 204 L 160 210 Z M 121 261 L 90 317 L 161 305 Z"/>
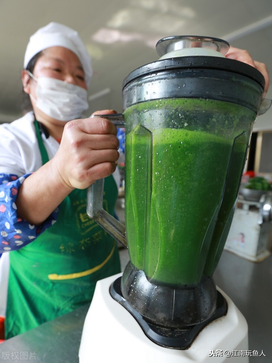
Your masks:
<path fill-rule="evenodd" d="M 28 71 L 35 81 L 36 97 L 30 97 L 36 102 L 36 107 L 46 115 L 60 121 L 70 121 L 80 117 L 89 108 L 87 91 L 80 87 L 50 77 L 36 78 Z"/>

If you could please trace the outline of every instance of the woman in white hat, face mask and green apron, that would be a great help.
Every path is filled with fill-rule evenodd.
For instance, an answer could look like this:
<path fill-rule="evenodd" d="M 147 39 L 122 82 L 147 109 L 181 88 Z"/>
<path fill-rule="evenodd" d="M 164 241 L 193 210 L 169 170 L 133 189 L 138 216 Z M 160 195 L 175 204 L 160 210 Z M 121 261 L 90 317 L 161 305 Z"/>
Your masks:
<path fill-rule="evenodd" d="M 86 215 L 95 180 L 107 177 L 111 214 L 118 192 L 115 126 L 77 119 L 91 72 L 72 29 L 51 23 L 30 38 L 22 82 L 33 112 L 0 129 L 0 252 L 11 251 L 6 338 L 90 302 L 96 281 L 120 272 L 116 242 Z"/>

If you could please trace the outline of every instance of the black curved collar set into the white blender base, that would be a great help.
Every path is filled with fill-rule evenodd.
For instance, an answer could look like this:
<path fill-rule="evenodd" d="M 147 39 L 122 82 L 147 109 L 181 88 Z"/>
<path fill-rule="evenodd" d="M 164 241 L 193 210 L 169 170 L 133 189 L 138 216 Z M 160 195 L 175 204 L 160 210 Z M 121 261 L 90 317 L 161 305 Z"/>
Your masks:
<path fill-rule="evenodd" d="M 217 290 L 217 304 L 214 314 L 206 321 L 187 327 L 186 329 L 170 329 L 155 325 L 139 314 L 123 297 L 121 292 L 121 277 L 118 277 L 110 286 L 110 294 L 137 320 L 146 336 L 154 343 L 172 349 L 188 349 L 200 331 L 215 319 L 227 314 L 227 303 L 223 295 Z"/>

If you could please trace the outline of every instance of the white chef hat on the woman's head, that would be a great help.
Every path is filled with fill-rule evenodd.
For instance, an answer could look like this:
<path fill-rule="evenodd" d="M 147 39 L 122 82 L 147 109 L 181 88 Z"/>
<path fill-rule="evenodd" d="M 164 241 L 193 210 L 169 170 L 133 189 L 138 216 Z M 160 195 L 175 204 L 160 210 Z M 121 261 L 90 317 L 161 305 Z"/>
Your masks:
<path fill-rule="evenodd" d="M 72 50 L 78 56 L 85 73 L 85 81 L 88 85 L 92 77 L 92 62 L 87 49 L 78 36 L 78 33 L 68 26 L 49 23 L 37 30 L 30 39 L 25 51 L 24 68 L 27 68 L 28 62 L 41 50 L 52 46 L 62 46 Z"/>

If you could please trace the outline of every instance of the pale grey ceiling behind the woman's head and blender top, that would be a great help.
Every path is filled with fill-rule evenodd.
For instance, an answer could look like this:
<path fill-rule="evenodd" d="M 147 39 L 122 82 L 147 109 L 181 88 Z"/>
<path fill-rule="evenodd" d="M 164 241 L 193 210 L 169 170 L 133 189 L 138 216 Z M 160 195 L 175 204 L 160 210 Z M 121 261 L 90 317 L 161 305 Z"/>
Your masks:
<path fill-rule="evenodd" d="M 166 36 L 222 38 L 272 70 L 271 0 L 1 0 L 0 122 L 22 115 L 25 48 L 51 21 L 76 29 L 92 56 L 89 113 L 121 112 L 123 79 L 157 60 L 155 44 Z"/>

